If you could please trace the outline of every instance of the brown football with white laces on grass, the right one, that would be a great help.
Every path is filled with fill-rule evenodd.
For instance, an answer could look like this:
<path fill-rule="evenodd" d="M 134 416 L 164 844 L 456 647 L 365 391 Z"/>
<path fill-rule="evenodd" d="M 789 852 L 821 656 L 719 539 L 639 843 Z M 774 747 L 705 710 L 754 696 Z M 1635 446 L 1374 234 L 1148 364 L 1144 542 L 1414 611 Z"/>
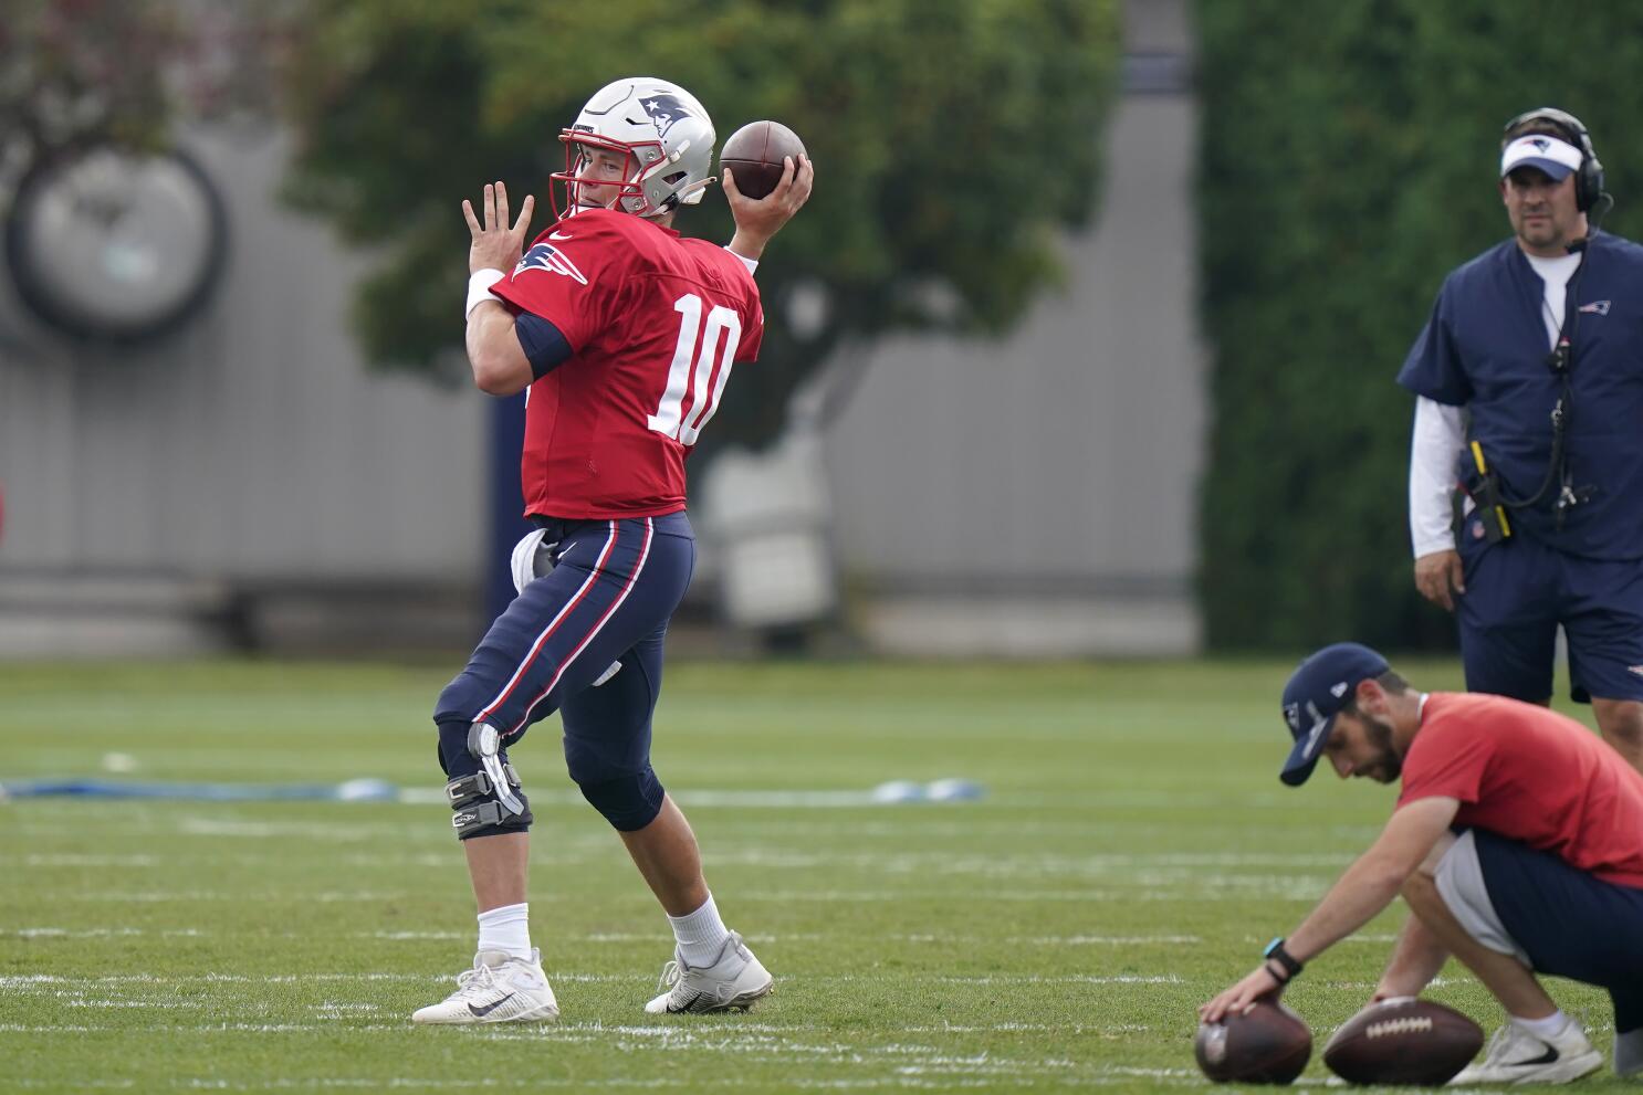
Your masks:
<path fill-rule="evenodd" d="M 1349 1084 L 1438 1087 L 1482 1046 L 1484 1029 L 1454 1008 L 1398 996 L 1347 1019 L 1324 1046 L 1324 1064 Z"/>

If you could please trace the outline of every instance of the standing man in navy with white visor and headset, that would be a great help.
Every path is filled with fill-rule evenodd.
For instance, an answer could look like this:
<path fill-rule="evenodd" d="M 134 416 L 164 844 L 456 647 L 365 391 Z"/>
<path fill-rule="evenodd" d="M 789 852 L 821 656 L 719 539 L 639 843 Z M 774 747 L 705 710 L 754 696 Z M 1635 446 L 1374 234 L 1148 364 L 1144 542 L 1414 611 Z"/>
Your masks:
<path fill-rule="evenodd" d="M 1513 238 L 1444 279 L 1398 373 L 1415 584 L 1470 691 L 1549 703 L 1561 624 L 1574 699 L 1643 770 L 1643 248 L 1587 222 L 1612 202 L 1561 110 L 1507 123 L 1500 199 Z"/>

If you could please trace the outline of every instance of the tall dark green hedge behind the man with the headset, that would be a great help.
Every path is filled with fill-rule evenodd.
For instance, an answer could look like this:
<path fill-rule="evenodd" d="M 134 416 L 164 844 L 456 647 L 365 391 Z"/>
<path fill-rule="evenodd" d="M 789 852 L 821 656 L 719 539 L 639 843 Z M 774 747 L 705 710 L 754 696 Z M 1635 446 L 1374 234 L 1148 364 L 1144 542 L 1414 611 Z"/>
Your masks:
<path fill-rule="evenodd" d="M 1415 593 L 1395 378 L 1454 266 L 1510 235 L 1500 126 L 1590 126 L 1636 238 L 1643 7 L 1201 0 L 1204 327 L 1214 427 L 1199 591 L 1219 648 L 1447 647 Z M 1628 202 L 1628 197 L 1633 200 Z"/>

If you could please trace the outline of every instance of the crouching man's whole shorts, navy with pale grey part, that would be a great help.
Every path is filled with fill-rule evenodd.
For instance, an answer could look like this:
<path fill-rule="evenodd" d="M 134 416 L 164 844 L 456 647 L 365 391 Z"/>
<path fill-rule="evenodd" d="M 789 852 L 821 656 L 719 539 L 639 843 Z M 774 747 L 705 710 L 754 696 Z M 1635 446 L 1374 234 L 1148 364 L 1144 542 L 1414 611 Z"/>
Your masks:
<path fill-rule="evenodd" d="M 1643 888 L 1604 882 L 1487 829 L 1461 834 L 1436 882 L 1477 942 L 1539 974 L 1607 988 L 1615 1031 L 1643 1028 Z"/>

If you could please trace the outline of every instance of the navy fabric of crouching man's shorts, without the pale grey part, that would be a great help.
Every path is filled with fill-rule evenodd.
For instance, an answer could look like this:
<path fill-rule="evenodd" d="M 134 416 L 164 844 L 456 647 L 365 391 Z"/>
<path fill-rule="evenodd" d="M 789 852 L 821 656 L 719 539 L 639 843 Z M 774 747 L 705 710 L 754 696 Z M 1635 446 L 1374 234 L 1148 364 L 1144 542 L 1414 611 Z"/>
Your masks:
<path fill-rule="evenodd" d="M 1489 900 L 1539 974 L 1608 990 L 1615 1033 L 1643 1028 L 1643 888 L 1604 882 L 1485 829 L 1472 829 Z"/>

